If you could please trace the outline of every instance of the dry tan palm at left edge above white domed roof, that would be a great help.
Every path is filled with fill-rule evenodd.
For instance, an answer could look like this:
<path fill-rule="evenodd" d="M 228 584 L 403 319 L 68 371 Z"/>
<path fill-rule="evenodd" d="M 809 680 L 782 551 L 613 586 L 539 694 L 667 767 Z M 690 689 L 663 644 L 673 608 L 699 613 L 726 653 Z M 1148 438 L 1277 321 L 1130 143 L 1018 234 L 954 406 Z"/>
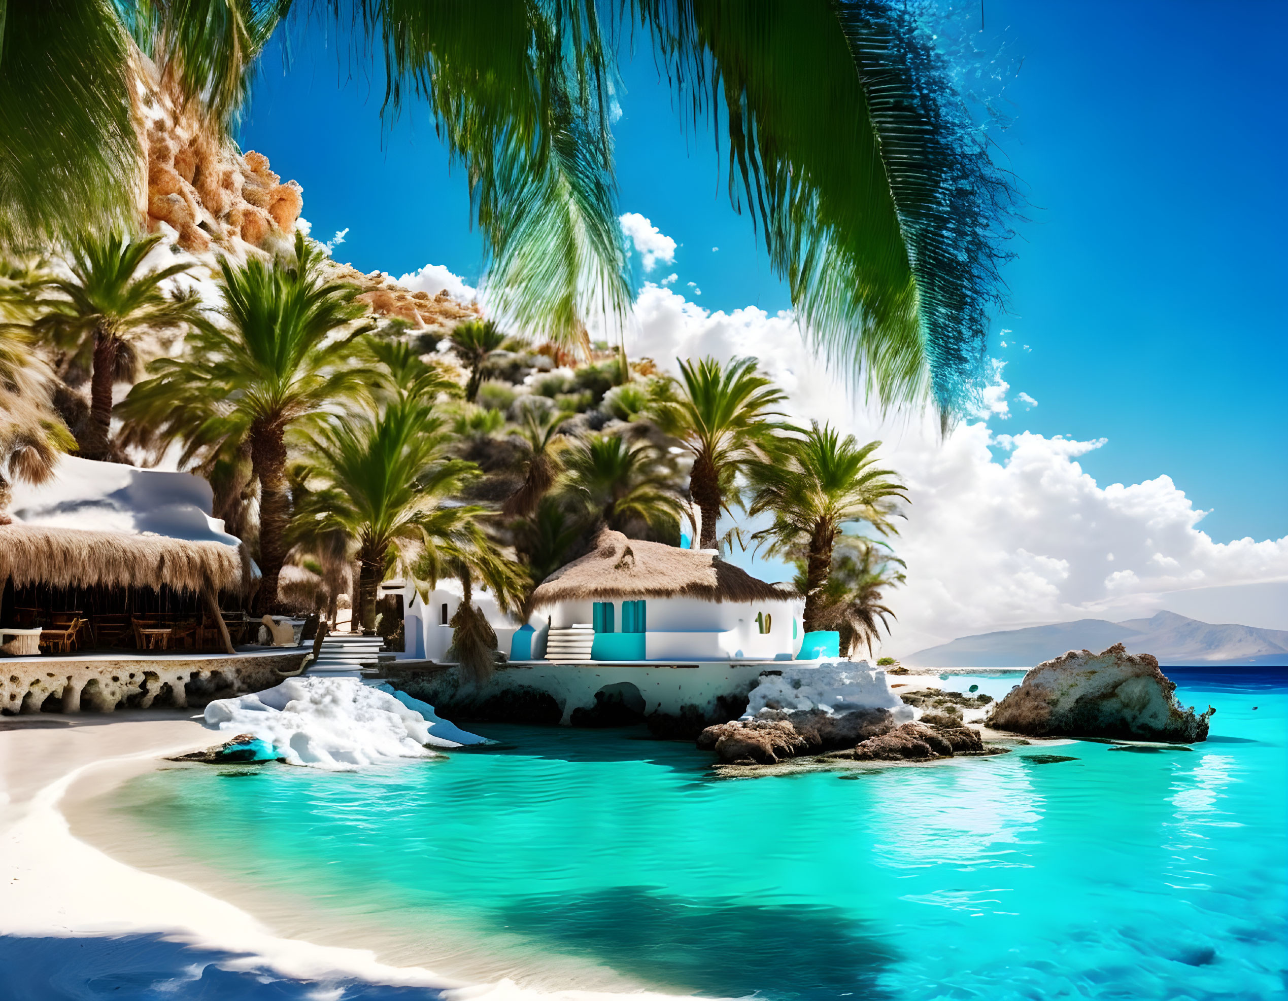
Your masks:
<path fill-rule="evenodd" d="M 10 521 L 10 480 L 44 482 L 58 457 L 76 448 L 50 403 L 53 372 L 27 328 L 31 293 L 43 280 L 41 261 L 0 260 L 0 525 Z"/>

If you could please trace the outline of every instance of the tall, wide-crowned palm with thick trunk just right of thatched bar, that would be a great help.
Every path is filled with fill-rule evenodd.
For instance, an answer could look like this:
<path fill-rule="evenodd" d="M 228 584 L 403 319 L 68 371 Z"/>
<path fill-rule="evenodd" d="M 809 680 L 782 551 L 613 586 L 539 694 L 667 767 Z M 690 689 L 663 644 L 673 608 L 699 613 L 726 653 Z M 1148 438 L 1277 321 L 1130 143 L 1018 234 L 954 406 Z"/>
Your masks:
<path fill-rule="evenodd" d="M 122 416 L 152 428 L 161 444 L 184 443 L 180 463 L 234 454 L 242 446 L 259 481 L 256 611 L 277 603 L 277 575 L 286 556 L 291 497 L 286 435 L 327 407 L 362 395 L 374 378 L 354 340 L 366 308 L 357 286 L 325 278 L 326 255 L 303 235 L 295 256 L 234 266 L 220 261 L 223 323 L 202 323 L 183 358 L 162 358 L 121 404 Z M 346 331 L 345 336 L 337 336 Z"/>

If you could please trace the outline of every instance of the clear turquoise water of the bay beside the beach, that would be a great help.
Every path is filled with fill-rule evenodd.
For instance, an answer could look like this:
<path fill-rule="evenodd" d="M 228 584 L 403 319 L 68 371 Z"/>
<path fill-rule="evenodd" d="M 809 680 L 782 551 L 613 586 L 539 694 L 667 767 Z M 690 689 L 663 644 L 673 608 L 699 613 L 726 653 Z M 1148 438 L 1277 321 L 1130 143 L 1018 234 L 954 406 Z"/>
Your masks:
<path fill-rule="evenodd" d="M 520 983 L 594 966 L 712 997 L 1284 997 L 1288 682 L 1173 677 L 1218 710 L 1193 750 L 719 780 L 635 731 L 479 724 L 504 748 L 162 771 L 118 809 L 231 879 L 416 934 L 426 965 L 473 950 Z M 984 681 L 1015 683 L 944 687 Z"/>

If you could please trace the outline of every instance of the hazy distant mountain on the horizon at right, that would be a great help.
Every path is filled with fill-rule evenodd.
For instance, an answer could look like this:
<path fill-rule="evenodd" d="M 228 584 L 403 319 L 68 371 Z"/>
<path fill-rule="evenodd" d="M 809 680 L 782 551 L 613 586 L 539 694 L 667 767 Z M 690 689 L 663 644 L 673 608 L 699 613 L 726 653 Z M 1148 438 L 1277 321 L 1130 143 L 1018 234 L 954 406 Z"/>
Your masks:
<path fill-rule="evenodd" d="M 918 668 L 1032 668 L 1068 650 L 1100 652 L 1122 643 L 1171 666 L 1288 665 L 1288 630 L 1211 625 L 1160 611 L 1150 619 L 1078 619 L 980 636 L 921 650 L 902 663 Z"/>

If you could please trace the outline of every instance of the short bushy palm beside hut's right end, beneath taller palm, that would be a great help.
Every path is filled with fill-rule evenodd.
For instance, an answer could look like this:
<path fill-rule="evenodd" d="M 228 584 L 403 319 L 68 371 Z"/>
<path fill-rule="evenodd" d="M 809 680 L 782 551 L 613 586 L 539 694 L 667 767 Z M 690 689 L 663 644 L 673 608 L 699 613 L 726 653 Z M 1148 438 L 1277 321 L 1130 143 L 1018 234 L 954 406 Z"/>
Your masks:
<path fill-rule="evenodd" d="M 882 592 L 904 583 L 903 560 L 878 539 L 846 538 L 832 553 L 832 569 L 820 598 L 819 625 L 841 634 L 841 656 L 863 643 L 868 655 L 881 638 L 881 627 L 890 633 L 890 619 L 896 618 L 882 605 Z M 806 564 L 796 564 L 796 588 L 808 592 Z"/>

